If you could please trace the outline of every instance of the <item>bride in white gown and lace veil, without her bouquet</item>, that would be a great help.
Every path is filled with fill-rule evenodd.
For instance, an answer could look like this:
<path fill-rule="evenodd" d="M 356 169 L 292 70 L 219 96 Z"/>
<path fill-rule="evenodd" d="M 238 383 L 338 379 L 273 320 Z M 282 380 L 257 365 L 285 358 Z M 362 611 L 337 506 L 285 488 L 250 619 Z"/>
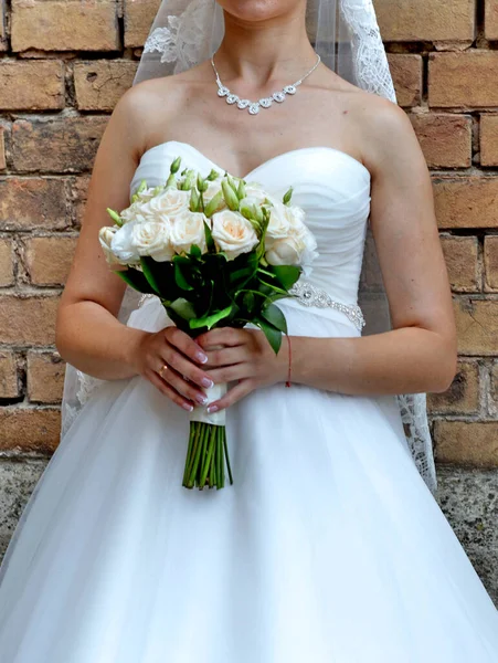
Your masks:
<path fill-rule="evenodd" d="M 430 176 L 383 98 L 370 0 L 337 9 L 162 3 L 102 139 L 60 305 L 57 348 L 95 380 L 0 569 L 3 663 L 498 662 L 497 611 L 396 400 L 455 375 Z M 319 257 L 308 297 L 279 302 L 290 344 L 278 355 L 255 328 L 193 340 L 157 297 L 118 319 L 126 286 L 98 243 L 105 210 L 142 179 L 162 183 L 177 157 L 274 194 L 294 187 Z M 363 335 L 350 314 L 368 222 L 392 328 Z M 224 381 L 209 408 L 226 411 L 234 483 L 188 491 L 188 412 Z"/>

